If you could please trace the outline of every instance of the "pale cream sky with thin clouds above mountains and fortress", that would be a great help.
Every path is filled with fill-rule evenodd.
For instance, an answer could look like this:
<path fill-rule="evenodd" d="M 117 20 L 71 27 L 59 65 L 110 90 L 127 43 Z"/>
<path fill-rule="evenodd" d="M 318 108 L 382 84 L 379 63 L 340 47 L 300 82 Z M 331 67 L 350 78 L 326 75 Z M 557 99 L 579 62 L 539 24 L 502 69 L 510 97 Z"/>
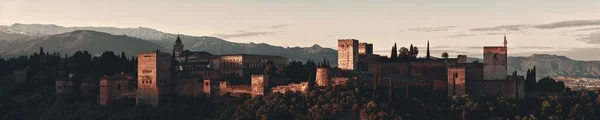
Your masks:
<path fill-rule="evenodd" d="M 0 25 L 148 27 L 242 43 L 337 49 L 337 39 L 425 53 L 600 60 L 600 0 L 0 0 Z M 424 55 L 424 54 L 423 54 Z M 439 55 L 437 55 L 439 56 Z"/>

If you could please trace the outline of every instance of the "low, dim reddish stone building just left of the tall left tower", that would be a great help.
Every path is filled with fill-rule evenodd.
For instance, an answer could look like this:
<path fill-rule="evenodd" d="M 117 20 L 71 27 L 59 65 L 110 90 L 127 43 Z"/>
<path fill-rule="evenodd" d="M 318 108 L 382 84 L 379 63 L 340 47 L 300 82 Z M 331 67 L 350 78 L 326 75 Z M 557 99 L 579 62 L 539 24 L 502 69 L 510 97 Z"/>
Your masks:
<path fill-rule="evenodd" d="M 122 97 L 135 98 L 137 81 L 132 75 L 118 74 L 114 76 L 103 76 L 100 78 L 100 104 L 106 105 L 111 100 Z"/>

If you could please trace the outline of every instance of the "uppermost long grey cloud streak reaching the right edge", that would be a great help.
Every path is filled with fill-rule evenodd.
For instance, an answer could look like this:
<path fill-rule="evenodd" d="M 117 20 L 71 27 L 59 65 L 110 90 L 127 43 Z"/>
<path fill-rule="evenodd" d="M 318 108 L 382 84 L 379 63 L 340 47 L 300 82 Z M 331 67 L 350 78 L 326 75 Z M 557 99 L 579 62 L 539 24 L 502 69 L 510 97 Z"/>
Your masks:
<path fill-rule="evenodd" d="M 600 25 L 600 20 L 570 20 L 531 26 L 537 29 L 556 29 L 565 27 L 582 27 Z"/>

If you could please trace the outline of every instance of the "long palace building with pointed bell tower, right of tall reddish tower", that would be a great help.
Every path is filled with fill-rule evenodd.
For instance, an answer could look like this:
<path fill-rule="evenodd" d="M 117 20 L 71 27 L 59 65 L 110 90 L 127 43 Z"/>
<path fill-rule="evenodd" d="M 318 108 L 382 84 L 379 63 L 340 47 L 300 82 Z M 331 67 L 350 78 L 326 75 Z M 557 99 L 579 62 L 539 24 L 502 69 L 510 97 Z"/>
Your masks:
<path fill-rule="evenodd" d="M 242 77 L 247 70 L 262 70 L 272 61 L 275 67 L 284 67 L 288 59 L 280 56 L 253 55 L 253 54 L 228 54 L 213 55 L 206 51 L 188 51 L 183 48 L 178 37 L 173 45 L 175 55 L 175 69 L 177 72 L 188 72 L 203 76 L 203 79 L 220 79 L 221 76 Z M 190 72 L 188 72 L 190 73 Z"/>

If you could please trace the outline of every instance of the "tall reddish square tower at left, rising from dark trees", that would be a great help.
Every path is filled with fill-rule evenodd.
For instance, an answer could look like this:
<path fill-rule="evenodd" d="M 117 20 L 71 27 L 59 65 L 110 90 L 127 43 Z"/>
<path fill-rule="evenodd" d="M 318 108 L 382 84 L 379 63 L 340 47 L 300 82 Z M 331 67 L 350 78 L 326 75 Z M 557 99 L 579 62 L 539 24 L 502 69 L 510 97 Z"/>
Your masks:
<path fill-rule="evenodd" d="M 158 105 L 171 84 L 171 54 L 143 52 L 138 54 L 138 91 L 136 103 Z"/>

